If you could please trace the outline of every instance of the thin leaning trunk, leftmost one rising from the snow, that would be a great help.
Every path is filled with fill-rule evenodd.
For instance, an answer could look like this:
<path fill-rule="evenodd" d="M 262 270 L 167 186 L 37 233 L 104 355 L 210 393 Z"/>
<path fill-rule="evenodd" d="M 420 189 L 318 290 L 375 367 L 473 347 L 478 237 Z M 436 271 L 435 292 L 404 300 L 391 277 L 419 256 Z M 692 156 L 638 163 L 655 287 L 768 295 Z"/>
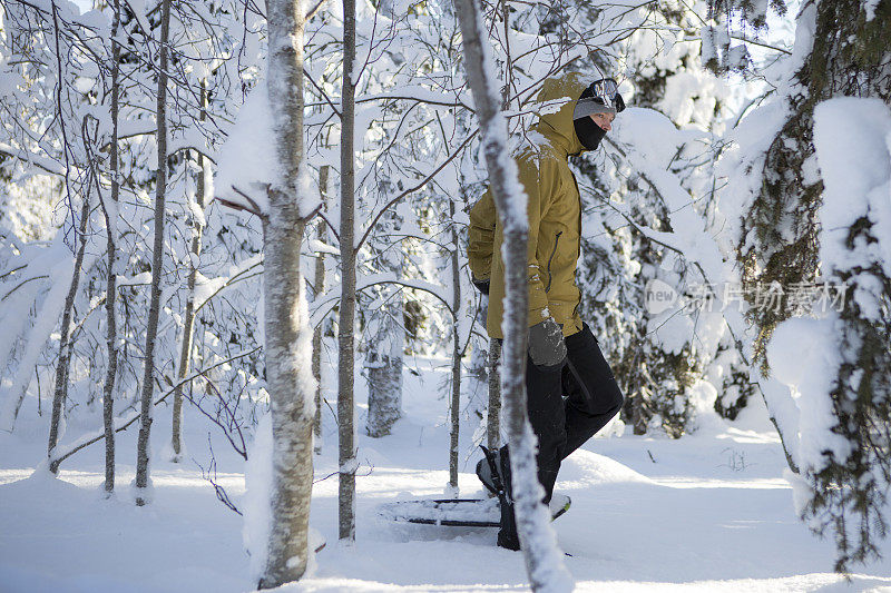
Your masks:
<path fill-rule="evenodd" d="M 62 314 L 62 325 L 59 328 L 59 363 L 56 367 L 56 389 L 52 394 L 52 416 L 49 424 L 49 444 L 47 445 L 47 457 L 52 457 L 52 449 L 59 442 L 59 425 L 61 424 L 65 401 L 68 398 L 68 370 L 71 364 L 71 316 L 77 297 L 77 287 L 80 284 L 80 268 L 84 265 L 84 251 L 87 247 L 87 219 L 90 216 L 89 188 L 84 194 L 84 205 L 80 209 L 80 225 L 78 234 L 80 245 L 75 256 L 75 273 L 71 275 L 71 284 L 68 288 L 68 296 L 65 299 L 65 313 Z M 59 465 L 50 463 L 50 472 L 53 474 L 59 471 Z"/>

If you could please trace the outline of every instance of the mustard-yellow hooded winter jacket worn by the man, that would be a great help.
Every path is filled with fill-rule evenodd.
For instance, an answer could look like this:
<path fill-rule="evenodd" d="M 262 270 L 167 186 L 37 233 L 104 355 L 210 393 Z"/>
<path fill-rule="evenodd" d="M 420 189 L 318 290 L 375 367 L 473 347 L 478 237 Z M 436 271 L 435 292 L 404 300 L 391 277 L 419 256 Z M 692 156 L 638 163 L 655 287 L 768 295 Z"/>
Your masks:
<path fill-rule="evenodd" d="M 515 156 L 520 184 L 529 197 L 529 327 L 550 315 L 562 326 L 565 336 L 581 329 L 577 310 L 580 293 L 576 286 L 581 207 L 578 184 L 567 162 L 567 156 L 585 150 L 572 125 L 572 109 L 585 90 L 581 80 L 581 75 L 570 72 L 545 81 L 538 102 L 564 102 L 559 111 L 539 117 L 527 135 L 530 146 Z M 559 102 L 551 105 L 542 112 L 554 111 Z M 486 326 L 493 338 L 503 337 L 502 238 L 495 201 L 487 190 L 470 210 L 468 259 L 473 278 L 489 280 Z"/>

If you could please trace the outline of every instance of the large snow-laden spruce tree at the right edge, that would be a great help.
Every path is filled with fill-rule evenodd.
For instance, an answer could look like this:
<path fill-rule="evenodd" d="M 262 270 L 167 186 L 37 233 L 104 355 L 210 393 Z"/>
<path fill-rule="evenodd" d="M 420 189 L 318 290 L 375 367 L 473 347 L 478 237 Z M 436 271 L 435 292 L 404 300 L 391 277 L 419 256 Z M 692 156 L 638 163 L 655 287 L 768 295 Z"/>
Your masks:
<path fill-rule="evenodd" d="M 752 9 L 715 6 L 756 22 Z M 757 378 L 800 470 L 789 474 L 796 508 L 832 534 L 839 571 L 877 557 L 887 532 L 889 28 L 889 1 L 802 4 L 775 99 L 736 134 L 722 196 L 738 213 L 727 220 L 758 332 Z"/>

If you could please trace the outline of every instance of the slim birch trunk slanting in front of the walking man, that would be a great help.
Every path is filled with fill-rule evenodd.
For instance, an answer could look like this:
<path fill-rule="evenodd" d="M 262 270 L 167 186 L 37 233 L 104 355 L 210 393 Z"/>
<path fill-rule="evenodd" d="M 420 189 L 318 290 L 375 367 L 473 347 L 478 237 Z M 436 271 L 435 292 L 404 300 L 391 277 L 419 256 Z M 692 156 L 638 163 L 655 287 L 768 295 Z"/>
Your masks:
<path fill-rule="evenodd" d="M 480 119 L 489 187 L 503 229 L 503 245 L 507 246 L 501 254 L 505 261 L 501 394 L 510 442 L 517 531 L 532 591 L 571 591 L 572 577 L 564 566 L 562 553 L 557 548 L 550 513 L 541 503 L 544 491 L 536 474 L 535 435 L 526 408 L 529 299 L 527 199 L 520 189 L 516 164 L 510 157 L 507 122 L 499 112 L 499 82 L 495 77 L 495 60 L 482 42 L 482 14 L 474 0 L 456 0 L 456 8 L 463 38 L 467 79 Z"/>

